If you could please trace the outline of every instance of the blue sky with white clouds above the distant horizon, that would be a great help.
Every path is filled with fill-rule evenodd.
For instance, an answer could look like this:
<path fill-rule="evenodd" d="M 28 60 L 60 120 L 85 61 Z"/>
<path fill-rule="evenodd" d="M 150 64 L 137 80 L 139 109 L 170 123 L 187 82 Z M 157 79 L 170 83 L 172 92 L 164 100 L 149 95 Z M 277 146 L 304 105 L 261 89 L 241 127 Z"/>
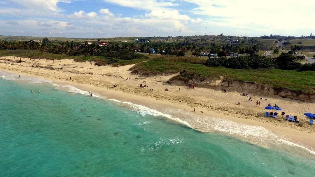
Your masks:
<path fill-rule="evenodd" d="M 314 0 L 0 0 L 0 35 L 309 36 Z"/>

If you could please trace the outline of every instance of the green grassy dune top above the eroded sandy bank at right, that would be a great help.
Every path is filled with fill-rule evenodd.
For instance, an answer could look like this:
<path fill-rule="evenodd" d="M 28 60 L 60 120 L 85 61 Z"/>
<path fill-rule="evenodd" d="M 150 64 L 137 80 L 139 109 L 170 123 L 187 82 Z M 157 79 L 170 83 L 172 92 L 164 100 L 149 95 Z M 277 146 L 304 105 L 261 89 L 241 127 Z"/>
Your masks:
<path fill-rule="evenodd" d="M 305 93 L 315 93 L 315 72 L 299 72 L 281 69 L 230 69 L 225 67 L 207 67 L 203 64 L 192 64 L 180 61 L 165 61 L 153 59 L 136 64 L 133 71 L 142 74 L 175 74 L 179 71 L 194 73 L 194 75 L 226 80 L 242 80 L 267 84 L 273 87 L 284 87 Z"/>

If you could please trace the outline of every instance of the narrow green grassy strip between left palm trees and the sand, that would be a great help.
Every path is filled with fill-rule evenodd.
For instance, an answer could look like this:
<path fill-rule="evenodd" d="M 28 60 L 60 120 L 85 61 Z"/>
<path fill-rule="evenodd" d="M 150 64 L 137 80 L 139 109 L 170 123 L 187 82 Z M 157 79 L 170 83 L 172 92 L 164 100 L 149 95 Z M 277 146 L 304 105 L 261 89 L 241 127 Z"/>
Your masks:
<path fill-rule="evenodd" d="M 55 60 L 60 60 L 60 59 L 74 59 L 75 61 L 78 62 L 84 62 L 87 60 L 91 61 L 100 61 L 103 62 L 104 64 L 107 64 L 107 59 L 103 56 L 83 56 L 83 55 L 78 55 L 78 56 L 69 56 L 69 55 L 59 55 L 59 54 L 54 54 L 54 53 L 48 53 L 48 52 L 40 52 L 38 50 L 0 50 L 0 57 L 3 56 L 13 56 L 15 55 L 16 57 L 21 57 L 21 58 L 46 58 L 46 59 L 55 59 Z M 112 63 L 112 66 L 117 66 L 117 65 L 128 65 L 128 64 L 136 64 L 141 61 L 144 61 L 144 59 L 132 59 L 132 60 L 122 60 L 119 58 L 114 58 L 117 60 L 116 63 Z"/>

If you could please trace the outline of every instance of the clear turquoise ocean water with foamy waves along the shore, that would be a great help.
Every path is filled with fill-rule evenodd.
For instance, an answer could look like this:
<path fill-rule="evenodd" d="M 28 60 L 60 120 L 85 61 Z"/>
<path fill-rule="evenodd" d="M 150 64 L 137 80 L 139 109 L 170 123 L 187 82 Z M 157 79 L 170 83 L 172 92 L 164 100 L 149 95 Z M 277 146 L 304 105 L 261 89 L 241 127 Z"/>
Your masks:
<path fill-rule="evenodd" d="M 0 176 L 315 174 L 314 155 L 289 152 L 294 147 L 282 151 L 202 133 L 154 110 L 71 89 L 17 75 L 0 78 Z"/>

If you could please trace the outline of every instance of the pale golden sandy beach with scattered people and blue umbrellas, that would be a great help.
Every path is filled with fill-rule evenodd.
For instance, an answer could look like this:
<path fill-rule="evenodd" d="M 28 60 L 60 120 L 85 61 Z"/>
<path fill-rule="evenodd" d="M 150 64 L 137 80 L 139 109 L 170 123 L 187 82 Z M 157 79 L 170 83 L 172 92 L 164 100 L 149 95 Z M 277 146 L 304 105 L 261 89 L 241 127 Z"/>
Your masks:
<path fill-rule="evenodd" d="M 180 117 L 192 128 L 203 132 L 220 131 L 220 127 L 224 125 L 220 124 L 216 127 L 214 125 L 216 121 L 230 120 L 242 125 L 241 127 L 245 130 L 247 129 L 246 125 L 261 126 L 277 135 L 278 138 L 315 148 L 315 127 L 309 125 L 308 119 L 303 115 L 305 112 L 314 113 L 315 103 L 277 96 L 263 97 L 251 93 L 249 94 L 253 96 L 253 101 L 248 101 L 249 97 L 241 96 L 241 93 L 238 92 L 227 91 L 223 93 L 214 89 L 199 87 L 189 90 L 186 86 L 165 84 L 165 81 L 174 75 L 146 78 L 132 75 L 128 70 L 133 65 L 121 66 L 117 72 L 116 67 L 99 67 L 91 65 L 89 62 L 86 64 L 77 63 L 69 59 L 62 60 L 61 64 L 59 64 L 60 60 L 55 60 L 53 64 L 53 60 L 46 59 L 22 58 L 23 62 L 17 63 L 17 61 L 18 59 L 14 61 L 12 56 L 1 57 L 0 70 L 45 78 L 53 80 L 58 85 L 71 85 L 84 91 L 98 93 L 109 99 L 143 105 L 170 114 L 172 117 Z M 143 80 L 146 80 L 146 83 L 143 83 Z M 113 84 L 117 84 L 117 87 L 113 87 Z M 140 88 L 139 84 L 146 84 L 148 87 Z M 165 91 L 166 88 L 168 91 Z M 153 89 L 153 91 L 149 91 L 149 89 Z M 267 100 L 260 100 L 261 97 Z M 257 100 L 261 101 L 260 107 L 256 107 Z M 238 102 L 240 105 L 237 105 Z M 279 105 L 285 114 L 297 116 L 300 123 L 285 121 L 284 118 L 281 118 L 282 111 L 277 111 L 277 119 L 265 117 L 264 107 L 268 103 Z M 196 112 L 192 111 L 194 108 L 196 108 Z M 272 110 L 272 112 L 274 111 Z M 214 120 L 214 118 L 218 119 Z M 248 134 L 244 135 L 244 132 Z M 255 133 L 257 132 L 248 130 L 242 133 L 236 131 L 226 133 L 240 137 L 248 136 L 248 140 L 255 142 Z M 272 134 L 262 134 L 262 136 L 273 136 Z"/>

